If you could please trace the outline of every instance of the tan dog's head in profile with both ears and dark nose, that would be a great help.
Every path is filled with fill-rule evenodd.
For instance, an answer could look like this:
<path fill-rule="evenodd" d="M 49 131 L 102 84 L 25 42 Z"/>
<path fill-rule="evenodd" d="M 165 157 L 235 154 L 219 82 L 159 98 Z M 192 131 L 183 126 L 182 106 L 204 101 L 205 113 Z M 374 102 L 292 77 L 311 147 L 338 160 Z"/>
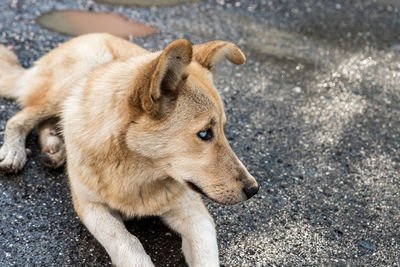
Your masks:
<path fill-rule="evenodd" d="M 236 204 L 256 194 L 258 184 L 224 133 L 226 116 L 212 76 L 224 58 L 236 65 L 246 60 L 232 43 L 176 40 L 141 67 L 126 140 L 165 175 L 218 203 Z"/>

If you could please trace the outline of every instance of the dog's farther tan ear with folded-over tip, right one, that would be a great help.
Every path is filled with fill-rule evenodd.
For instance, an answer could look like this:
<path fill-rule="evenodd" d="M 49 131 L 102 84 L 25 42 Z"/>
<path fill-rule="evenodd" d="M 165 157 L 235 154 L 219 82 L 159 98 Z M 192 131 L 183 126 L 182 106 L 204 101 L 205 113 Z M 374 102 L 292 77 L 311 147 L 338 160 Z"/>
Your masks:
<path fill-rule="evenodd" d="M 235 65 L 242 65 L 246 62 L 243 52 L 235 44 L 224 41 L 194 45 L 193 56 L 198 63 L 209 70 L 224 58 Z"/>

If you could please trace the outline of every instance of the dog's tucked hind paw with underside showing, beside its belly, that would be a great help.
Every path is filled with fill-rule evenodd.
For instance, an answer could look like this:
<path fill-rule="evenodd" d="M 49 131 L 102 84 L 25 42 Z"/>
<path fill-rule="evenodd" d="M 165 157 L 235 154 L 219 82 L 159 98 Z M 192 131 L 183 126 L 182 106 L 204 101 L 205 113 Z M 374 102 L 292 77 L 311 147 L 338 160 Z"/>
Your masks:
<path fill-rule="evenodd" d="M 38 126 L 39 143 L 42 147 L 42 162 L 50 168 L 59 168 L 65 163 L 65 145 L 57 127 L 59 119 L 51 118 Z"/>

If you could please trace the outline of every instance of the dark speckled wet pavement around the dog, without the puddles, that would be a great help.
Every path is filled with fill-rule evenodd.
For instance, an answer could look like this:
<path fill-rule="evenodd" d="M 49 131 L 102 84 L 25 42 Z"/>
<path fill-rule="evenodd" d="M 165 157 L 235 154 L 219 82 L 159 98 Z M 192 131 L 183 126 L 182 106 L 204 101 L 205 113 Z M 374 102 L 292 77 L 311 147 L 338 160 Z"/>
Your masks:
<path fill-rule="evenodd" d="M 176 38 L 223 39 L 247 55 L 222 63 L 228 139 L 261 185 L 250 201 L 206 201 L 223 266 L 399 266 L 400 2 L 200 1 L 122 7 L 93 1 L 0 3 L 0 43 L 24 66 L 69 37 L 41 29 L 52 9 L 115 12 Z M 18 108 L 0 100 L 0 133 Z M 0 135 L 2 140 L 2 134 Z M 2 266 L 107 266 L 104 249 L 73 212 L 63 170 L 39 160 L 0 177 Z M 156 266 L 184 266 L 180 239 L 156 218 L 127 223 Z"/>

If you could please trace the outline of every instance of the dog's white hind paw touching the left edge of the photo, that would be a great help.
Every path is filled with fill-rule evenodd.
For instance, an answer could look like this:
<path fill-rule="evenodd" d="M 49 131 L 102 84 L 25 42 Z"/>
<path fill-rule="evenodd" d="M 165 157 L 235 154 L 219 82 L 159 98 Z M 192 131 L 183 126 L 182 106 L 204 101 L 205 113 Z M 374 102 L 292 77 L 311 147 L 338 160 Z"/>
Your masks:
<path fill-rule="evenodd" d="M 27 152 L 24 147 L 3 145 L 0 149 L 0 169 L 17 173 L 26 163 Z"/>

